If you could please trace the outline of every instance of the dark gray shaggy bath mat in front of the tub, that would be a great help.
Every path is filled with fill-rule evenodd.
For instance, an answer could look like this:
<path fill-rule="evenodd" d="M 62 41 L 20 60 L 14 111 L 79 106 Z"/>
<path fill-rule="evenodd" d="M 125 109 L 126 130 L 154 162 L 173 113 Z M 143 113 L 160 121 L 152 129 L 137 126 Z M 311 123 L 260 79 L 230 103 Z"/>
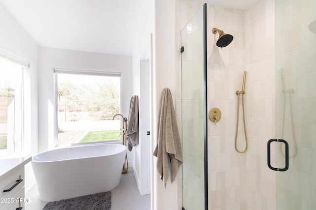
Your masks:
<path fill-rule="evenodd" d="M 47 203 L 43 210 L 110 210 L 111 191 Z"/>

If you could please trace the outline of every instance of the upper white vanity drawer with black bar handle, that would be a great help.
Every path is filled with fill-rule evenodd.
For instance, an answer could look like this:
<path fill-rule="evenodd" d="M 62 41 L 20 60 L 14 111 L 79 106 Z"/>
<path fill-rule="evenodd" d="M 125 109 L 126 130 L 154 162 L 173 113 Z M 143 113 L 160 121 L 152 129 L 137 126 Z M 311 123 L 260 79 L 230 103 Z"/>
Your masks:
<path fill-rule="evenodd" d="M 17 181 L 19 180 L 19 181 Z M 15 186 L 14 186 L 15 185 Z M 14 187 L 13 187 L 14 186 Z M 10 176 L 5 177 L 0 182 L 0 198 L 1 199 L 11 199 L 13 196 L 24 186 L 24 167 L 21 167 L 19 170 L 16 170 Z M 9 190 L 7 192 L 3 192 L 5 190 Z M 4 202 L 4 201 L 3 201 Z M 3 203 L 0 203 L 2 206 Z"/>

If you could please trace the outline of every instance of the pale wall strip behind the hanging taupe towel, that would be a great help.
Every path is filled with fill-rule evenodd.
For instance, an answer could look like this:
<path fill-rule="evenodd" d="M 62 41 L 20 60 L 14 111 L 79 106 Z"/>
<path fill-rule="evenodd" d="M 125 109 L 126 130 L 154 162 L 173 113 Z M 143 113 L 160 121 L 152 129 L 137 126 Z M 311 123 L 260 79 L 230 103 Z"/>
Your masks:
<path fill-rule="evenodd" d="M 153 147 L 157 145 L 158 107 L 162 90 L 169 88 L 175 99 L 176 66 L 175 66 L 175 2 L 170 0 L 155 0 L 155 30 L 154 30 L 154 75 L 153 75 Z M 178 178 L 171 184 L 167 181 L 166 188 L 157 173 L 157 158 L 153 158 L 153 210 L 178 210 Z M 181 169 L 180 169 L 181 171 Z"/>

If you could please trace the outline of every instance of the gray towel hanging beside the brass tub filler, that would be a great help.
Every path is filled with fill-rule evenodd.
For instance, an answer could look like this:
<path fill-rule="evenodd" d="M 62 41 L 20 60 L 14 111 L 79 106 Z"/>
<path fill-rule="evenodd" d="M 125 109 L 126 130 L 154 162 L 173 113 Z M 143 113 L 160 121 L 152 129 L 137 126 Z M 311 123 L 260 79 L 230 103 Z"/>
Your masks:
<path fill-rule="evenodd" d="M 138 96 L 130 99 L 126 130 L 127 148 L 129 151 L 138 145 Z"/>

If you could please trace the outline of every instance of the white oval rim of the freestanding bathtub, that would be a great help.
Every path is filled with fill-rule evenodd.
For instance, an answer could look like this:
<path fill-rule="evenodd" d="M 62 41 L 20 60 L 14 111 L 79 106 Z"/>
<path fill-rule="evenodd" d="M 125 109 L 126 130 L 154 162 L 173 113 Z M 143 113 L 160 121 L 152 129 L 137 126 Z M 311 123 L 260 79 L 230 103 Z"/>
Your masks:
<path fill-rule="evenodd" d="M 49 160 L 49 161 L 39 161 L 39 160 L 36 160 L 36 156 L 37 155 L 40 155 L 40 154 L 43 154 L 43 153 L 48 153 L 50 151 L 53 151 L 53 150 L 63 150 L 63 149 L 69 149 L 69 148 L 81 148 L 81 147 L 93 147 L 93 146 L 98 146 L 98 145 L 119 145 L 119 147 L 122 147 L 122 150 L 116 152 L 116 153 L 113 153 L 113 154 L 103 154 L 103 155 L 93 155 L 93 156 L 86 156 L 86 157 L 78 157 L 78 158 L 70 158 L 70 159 L 62 159 L 62 160 Z M 67 147 L 56 147 L 52 150 L 47 150 L 47 151 L 42 151 L 40 153 L 37 153 L 35 155 L 32 155 L 32 160 L 31 162 L 35 162 L 35 163 L 53 163 L 53 162 L 60 162 L 60 161 L 71 161 L 71 160 L 78 160 L 78 159 L 84 159 L 84 158 L 94 158 L 94 157 L 103 157 L 103 156 L 112 156 L 112 155 L 115 155 L 115 154 L 118 154 L 120 152 L 127 152 L 127 146 L 125 145 L 122 145 L 122 144 L 115 144 L 115 143 L 106 143 L 106 144 L 102 144 L 102 143 L 95 143 L 95 144 L 82 144 L 82 145 L 76 145 L 76 146 L 67 146 Z"/>

